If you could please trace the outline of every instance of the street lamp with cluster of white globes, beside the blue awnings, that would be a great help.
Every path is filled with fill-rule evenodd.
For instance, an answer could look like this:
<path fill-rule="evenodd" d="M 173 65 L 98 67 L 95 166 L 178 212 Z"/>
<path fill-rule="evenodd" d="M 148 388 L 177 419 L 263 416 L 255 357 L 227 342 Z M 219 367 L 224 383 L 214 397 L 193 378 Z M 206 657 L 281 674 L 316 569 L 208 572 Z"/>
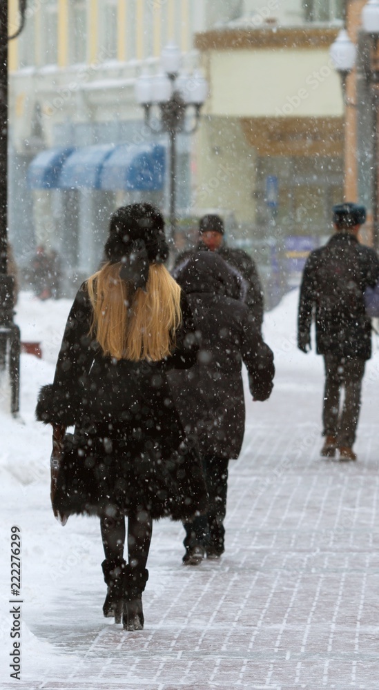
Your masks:
<path fill-rule="evenodd" d="M 135 83 L 137 103 L 144 108 L 146 125 L 152 132 L 167 132 L 170 141 L 170 234 L 173 248 L 176 232 L 176 141 L 178 132 L 193 134 L 200 121 L 200 110 L 208 95 L 208 83 L 199 72 L 193 75 L 179 73 L 179 48 L 169 44 L 162 50 L 162 73 L 142 74 Z M 153 120 L 153 107 L 160 119 Z M 194 122 L 186 126 L 186 112 L 193 108 Z"/>

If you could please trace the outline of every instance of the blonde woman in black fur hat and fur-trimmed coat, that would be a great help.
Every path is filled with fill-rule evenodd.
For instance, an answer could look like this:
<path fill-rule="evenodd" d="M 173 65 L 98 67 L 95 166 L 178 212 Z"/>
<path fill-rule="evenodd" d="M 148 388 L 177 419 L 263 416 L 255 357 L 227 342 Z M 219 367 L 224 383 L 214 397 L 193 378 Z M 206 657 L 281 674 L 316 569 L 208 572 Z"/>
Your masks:
<path fill-rule="evenodd" d="M 72 305 L 52 385 L 37 420 L 75 426 L 64 443 L 53 508 L 99 515 L 108 585 L 104 615 L 142 629 L 152 520 L 206 510 L 200 457 L 186 439 L 167 371 L 196 361 L 186 296 L 163 262 L 161 213 L 150 204 L 110 219 L 106 263 Z M 124 559 L 128 517 L 128 562 Z"/>

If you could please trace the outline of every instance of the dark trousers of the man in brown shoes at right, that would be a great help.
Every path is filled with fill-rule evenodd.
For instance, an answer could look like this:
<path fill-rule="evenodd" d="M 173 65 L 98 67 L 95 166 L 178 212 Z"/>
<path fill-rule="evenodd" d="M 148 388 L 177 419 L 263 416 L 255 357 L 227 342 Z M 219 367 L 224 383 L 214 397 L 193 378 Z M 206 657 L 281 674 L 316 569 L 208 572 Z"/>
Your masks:
<path fill-rule="evenodd" d="M 356 440 L 360 413 L 360 391 L 365 359 L 324 355 L 325 388 L 322 422 L 324 436 L 335 436 L 338 446 L 351 448 Z M 341 392 L 344 400 L 341 406 Z"/>

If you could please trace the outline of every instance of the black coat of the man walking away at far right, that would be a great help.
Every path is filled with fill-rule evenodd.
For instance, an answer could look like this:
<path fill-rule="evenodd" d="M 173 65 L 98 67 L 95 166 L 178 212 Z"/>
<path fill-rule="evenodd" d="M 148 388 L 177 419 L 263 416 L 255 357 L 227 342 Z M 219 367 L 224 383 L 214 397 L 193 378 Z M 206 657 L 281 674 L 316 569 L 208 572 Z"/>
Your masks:
<path fill-rule="evenodd" d="M 363 293 L 378 279 L 378 256 L 355 235 L 338 232 L 311 252 L 300 288 L 299 346 L 310 343 L 314 315 L 318 354 L 369 359 L 371 320 Z"/>

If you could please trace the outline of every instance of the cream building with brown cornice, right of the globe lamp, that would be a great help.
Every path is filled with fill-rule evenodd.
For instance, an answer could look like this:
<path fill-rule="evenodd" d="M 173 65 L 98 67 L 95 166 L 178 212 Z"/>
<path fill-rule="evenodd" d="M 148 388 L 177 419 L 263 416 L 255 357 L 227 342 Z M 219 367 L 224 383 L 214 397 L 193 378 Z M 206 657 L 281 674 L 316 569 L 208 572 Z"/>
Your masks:
<path fill-rule="evenodd" d="M 195 203 L 233 209 L 235 242 L 258 262 L 274 254 L 296 284 L 344 199 L 344 103 L 329 57 L 344 6 L 246 5 L 195 39 L 211 84 Z"/>

